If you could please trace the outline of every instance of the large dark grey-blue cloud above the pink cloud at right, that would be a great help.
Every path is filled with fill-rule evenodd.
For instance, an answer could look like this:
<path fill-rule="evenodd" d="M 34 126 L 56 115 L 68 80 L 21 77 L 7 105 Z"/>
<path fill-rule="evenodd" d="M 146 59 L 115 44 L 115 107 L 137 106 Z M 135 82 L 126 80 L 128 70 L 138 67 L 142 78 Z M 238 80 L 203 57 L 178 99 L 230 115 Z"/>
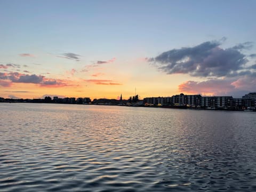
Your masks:
<path fill-rule="evenodd" d="M 220 47 L 221 42 L 204 42 L 194 47 L 173 49 L 148 59 L 160 71 L 167 74 L 189 74 L 196 77 L 233 76 L 244 69 L 248 62 L 241 49 L 249 49 L 251 42 L 238 44 L 228 49 Z"/>

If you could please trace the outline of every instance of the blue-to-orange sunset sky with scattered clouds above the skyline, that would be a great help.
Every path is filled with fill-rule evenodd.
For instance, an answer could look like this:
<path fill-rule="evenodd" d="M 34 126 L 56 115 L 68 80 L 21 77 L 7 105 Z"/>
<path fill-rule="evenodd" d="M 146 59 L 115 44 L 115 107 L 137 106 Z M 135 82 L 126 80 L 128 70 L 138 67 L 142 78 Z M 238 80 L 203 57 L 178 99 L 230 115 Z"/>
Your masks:
<path fill-rule="evenodd" d="M 0 97 L 256 91 L 256 1 L 0 0 Z"/>

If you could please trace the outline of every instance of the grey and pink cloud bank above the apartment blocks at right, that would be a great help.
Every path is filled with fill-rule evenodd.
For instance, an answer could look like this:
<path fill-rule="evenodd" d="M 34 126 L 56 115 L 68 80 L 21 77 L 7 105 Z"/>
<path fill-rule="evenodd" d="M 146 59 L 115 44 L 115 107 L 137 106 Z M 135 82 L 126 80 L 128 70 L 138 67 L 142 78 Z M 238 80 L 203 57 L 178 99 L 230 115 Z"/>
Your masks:
<path fill-rule="evenodd" d="M 202 82 L 188 81 L 179 85 L 181 92 L 227 95 L 256 91 L 256 64 L 251 65 L 256 54 L 242 52 L 250 50 L 252 42 L 227 49 L 220 47 L 221 44 L 221 41 L 208 41 L 194 47 L 173 49 L 147 61 L 166 74 L 207 78 Z"/>

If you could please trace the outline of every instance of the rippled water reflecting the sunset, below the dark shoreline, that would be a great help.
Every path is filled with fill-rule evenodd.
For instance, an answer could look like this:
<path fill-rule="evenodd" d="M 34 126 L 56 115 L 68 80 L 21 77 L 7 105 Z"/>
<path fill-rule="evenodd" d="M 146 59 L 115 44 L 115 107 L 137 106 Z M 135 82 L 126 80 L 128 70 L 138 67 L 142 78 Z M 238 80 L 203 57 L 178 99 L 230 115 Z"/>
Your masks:
<path fill-rule="evenodd" d="M 0 104 L 0 191 L 256 191 L 256 113 Z"/>

